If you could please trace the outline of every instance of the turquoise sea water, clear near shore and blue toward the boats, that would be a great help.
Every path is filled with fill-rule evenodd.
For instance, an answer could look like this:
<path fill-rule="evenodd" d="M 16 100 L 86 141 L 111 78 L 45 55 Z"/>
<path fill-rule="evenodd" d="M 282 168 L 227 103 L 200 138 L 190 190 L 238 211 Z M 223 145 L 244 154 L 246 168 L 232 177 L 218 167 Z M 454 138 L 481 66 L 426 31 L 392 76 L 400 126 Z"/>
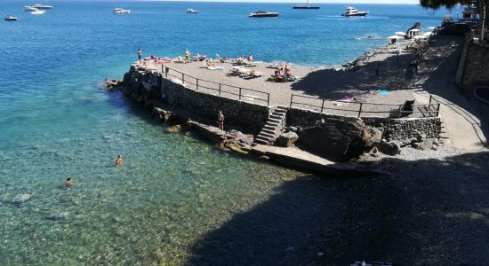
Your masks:
<path fill-rule="evenodd" d="M 34 16 L 25 4 L 0 3 L 3 16 L 20 18 L 0 23 L 1 265 L 301 261 L 337 217 L 341 192 L 327 176 L 222 153 L 191 132 L 164 134 L 100 82 L 120 78 L 138 47 L 331 66 L 444 15 L 414 5 L 357 4 L 371 14 L 347 19 L 343 4 L 51 1 Z M 113 15 L 119 6 L 132 13 Z M 246 17 L 259 9 L 280 16 Z M 379 39 L 356 39 L 369 35 Z"/>

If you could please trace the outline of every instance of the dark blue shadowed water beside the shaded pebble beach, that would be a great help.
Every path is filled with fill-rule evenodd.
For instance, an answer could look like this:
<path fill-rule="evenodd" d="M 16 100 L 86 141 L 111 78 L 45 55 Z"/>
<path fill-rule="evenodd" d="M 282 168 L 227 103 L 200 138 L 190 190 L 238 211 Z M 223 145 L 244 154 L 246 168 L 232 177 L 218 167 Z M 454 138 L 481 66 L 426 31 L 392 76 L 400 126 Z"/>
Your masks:
<path fill-rule="evenodd" d="M 376 178 L 301 176 L 282 184 L 266 202 L 236 214 L 191 247 L 189 265 L 300 265 L 325 252 L 325 227 L 341 223 L 349 190 L 365 194 Z M 352 188 L 350 188 L 352 186 Z M 379 188 L 381 189 L 381 188 Z M 345 193 L 347 192 L 347 193 Z M 385 195 L 385 194 L 384 194 Z M 366 197 L 366 195 L 364 195 Z M 392 194 L 395 198 L 396 195 Z M 365 203 L 364 203 L 365 204 Z M 383 200 L 369 201 L 382 207 Z M 347 205 L 348 208 L 350 206 Z M 390 229 L 392 230 L 392 229 Z M 383 224 L 382 231 L 389 231 Z M 378 236 L 365 238 L 373 242 Z M 381 245 L 389 245 L 384 241 Z M 379 249 L 381 252 L 384 248 Z"/>

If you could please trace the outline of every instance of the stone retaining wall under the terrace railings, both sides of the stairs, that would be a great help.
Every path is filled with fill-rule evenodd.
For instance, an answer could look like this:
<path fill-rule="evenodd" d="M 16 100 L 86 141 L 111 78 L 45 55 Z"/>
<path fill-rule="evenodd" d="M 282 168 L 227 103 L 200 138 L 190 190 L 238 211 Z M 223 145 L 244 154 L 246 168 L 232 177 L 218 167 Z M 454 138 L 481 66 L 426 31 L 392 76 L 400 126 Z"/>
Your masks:
<path fill-rule="evenodd" d="M 223 98 L 198 90 L 191 90 L 170 79 L 162 77 L 156 70 L 131 66 L 124 74 L 124 95 L 152 107 L 154 102 L 162 101 L 170 106 L 184 109 L 204 119 L 215 121 L 217 113 L 225 115 L 226 125 L 256 135 L 263 128 L 272 109 L 269 106 L 247 103 L 236 99 Z M 315 111 L 290 108 L 286 115 L 286 125 L 312 128 L 327 124 L 341 127 L 341 121 L 369 126 L 381 130 L 382 137 L 400 142 L 409 141 L 420 135 L 437 138 L 441 131 L 441 121 L 432 118 L 355 118 Z"/>

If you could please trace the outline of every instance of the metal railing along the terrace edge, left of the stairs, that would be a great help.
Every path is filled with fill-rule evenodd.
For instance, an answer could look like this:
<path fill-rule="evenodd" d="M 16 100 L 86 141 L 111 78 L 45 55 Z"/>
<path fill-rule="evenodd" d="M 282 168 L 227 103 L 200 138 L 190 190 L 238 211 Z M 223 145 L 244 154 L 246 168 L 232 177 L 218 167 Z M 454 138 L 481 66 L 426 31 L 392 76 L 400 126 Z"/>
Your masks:
<path fill-rule="evenodd" d="M 236 98 L 240 101 L 254 102 L 256 100 L 266 103 L 267 106 L 270 105 L 270 94 L 268 92 L 199 79 L 164 65 L 161 66 L 161 72 L 166 78 L 171 76 L 180 80 L 181 84 L 187 86 L 189 89 L 200 90 L 225 98 Z"/>

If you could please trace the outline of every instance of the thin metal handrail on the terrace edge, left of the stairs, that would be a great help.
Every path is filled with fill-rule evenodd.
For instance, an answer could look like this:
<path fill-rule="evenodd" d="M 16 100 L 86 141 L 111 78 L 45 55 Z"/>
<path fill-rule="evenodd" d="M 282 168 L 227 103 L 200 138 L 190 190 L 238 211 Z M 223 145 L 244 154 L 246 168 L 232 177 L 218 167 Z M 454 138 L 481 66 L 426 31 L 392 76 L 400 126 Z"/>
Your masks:
<path fill-rule="evenodd" d="M 170 74 L 170 70 L 172 72 L 176 72 L 178 74 L 181 74 L 181 76 L 177 76 L 175 74 Z M 219 95 L 221 95 L 222 93 L 228 93 L 230 95 L 237 96 L 237 98 L 239 100 L 241 100 L 242 98 L 253 98 L 253 100 L 256 99 L 256 100 L 259 100 L 259 101 L 262 101 L 262 102 L 266 102 L 267 103 L 267 106 L 270 105 L 270 94 L 268 92 L 264 92 L 264 91 L 260 91 L 260 90 L 253 90 L 253 89 L 248 89 L 248 88 L 243 88 L 243 87 L 237 87 L 237 86 L 234 86 L 234 85 L 224 84 L 224 83 L 220 83 L 220 82 L 212 82 L 212 81 L 208 81 L 208 80 L 204 80 L 204 79 L 199 79 L 199 78 L 196 78 L 195 76 L 192 76 L 192 75 L 189 75 L 189 74 L 185 74 L 185 73 L 180 72 L 178 70 L 175 70 L 175 69 L 173 69 L 171 67 L 164 66 L 163 64 L 161 65 L 161 72 L 165 75 L 165 77 L 172 76 L 172 77 L 175 77 L 177 79 L 180 79 L 182 84 L 190 84 L 190 85 L 196 86 L 196 90 L 199 90 L 199 89 L 214 90 L 214 91 L 218 91 Z M 196 82 L 195 83 L 189 82 L 189 79 L 188 78 L 195 79 Z M 203 86 L 202 84 L 199 84 L 199 82 L 209 82 L 209 83 L 212 83 L 212 84 L 216 84 L 216 85 L 218 85 L 218 88 L 219 89 L 215 89 L 215 88 Z M 232 91 L 228 91 L 228 90 L 222 90 L 222 87 L 223 86 L 224 87 L 233 88 L 233 89 L 237 89 L 237 93 L 236 92 L 232 92 Z M 243 94 L 244 91 L 257 92 L 257 93 L 261 94 L 263 97 L 266 97 L 266 98 L 261 98 L 260 96 L 253 96 L 253 95 L 244 95 Z"/>

